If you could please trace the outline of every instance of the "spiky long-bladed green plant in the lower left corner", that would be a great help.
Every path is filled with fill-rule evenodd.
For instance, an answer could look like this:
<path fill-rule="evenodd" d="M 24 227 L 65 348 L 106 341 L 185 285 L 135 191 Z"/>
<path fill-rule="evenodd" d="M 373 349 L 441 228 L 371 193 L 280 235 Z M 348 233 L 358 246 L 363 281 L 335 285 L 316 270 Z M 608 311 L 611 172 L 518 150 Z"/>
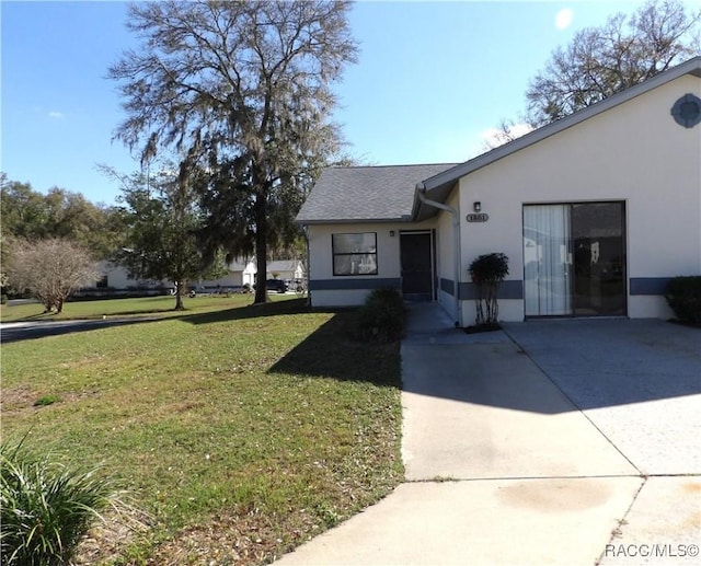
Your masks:
<path fill-rule="evenodd" d="M 67 565 L 100 512 L 116 503 L 108 480 L 0 444 L 0 565 Z"/>

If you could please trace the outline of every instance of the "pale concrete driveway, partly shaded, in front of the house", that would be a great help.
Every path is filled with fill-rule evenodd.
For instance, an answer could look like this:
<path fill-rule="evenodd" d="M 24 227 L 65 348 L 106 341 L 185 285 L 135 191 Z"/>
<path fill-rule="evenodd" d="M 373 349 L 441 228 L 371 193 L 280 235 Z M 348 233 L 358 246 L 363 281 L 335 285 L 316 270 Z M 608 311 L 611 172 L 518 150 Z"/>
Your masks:
<path fill-rule="evenodd" d="M 696 564 L 701 332 L 538 321 L 402 343 L 406 483 L 280 564 Z"/>

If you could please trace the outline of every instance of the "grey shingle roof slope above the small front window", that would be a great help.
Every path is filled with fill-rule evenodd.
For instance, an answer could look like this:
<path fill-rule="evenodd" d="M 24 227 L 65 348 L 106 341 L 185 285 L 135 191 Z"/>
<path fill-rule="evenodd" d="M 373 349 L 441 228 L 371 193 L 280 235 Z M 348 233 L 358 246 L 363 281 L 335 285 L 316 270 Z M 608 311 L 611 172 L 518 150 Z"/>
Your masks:
<path fill-rule="evenodd" d="M 325 169 L 297 215 L 296 222 L 409 221 L 416 184 L 455 165 Z"/>

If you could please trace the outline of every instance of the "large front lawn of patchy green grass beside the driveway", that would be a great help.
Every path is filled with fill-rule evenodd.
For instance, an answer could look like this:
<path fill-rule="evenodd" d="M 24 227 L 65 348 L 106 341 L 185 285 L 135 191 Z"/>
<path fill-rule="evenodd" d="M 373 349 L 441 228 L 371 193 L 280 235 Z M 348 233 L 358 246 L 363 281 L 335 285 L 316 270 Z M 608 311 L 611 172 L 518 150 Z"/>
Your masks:
<path fill-rule="evenodd" d="M 117 564 L 267 563 L 401 481 L 398 345 L 230 300 L 2 346 L 3 436 L 101 463 L 150 517 Z"/>

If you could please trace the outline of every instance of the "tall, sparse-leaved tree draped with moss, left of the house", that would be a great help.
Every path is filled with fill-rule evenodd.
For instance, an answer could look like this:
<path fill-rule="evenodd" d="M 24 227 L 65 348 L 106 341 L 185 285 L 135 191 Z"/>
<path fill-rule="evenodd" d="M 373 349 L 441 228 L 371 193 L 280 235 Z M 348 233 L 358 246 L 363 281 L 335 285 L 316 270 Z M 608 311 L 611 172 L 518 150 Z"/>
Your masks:
<path fill-rule="evenodd" d="M 254 251 L 265 274 L 267 246 L 290 238 L 310 180 L 340 147 L 330 84 L 355 60 L 348 9 L 320 0 L 130 8 L 142 45 L 110 69 L 127 114 L 116 137 L 142 160 L 186 151 L 206 172 L 193 180 L 209 256 L 218 246 Z"/>

